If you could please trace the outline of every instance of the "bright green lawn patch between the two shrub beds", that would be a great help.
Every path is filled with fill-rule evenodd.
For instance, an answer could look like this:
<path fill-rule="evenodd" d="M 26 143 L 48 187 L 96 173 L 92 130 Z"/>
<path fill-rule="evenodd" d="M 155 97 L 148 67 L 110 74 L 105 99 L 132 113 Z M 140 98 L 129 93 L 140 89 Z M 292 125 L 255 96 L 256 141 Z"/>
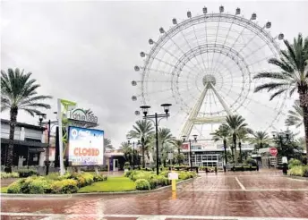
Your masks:
<path fill-rule="evenodd" d="M 135 183 L 127 177 L 108 176 L 107 181 L 94 182 L 90 186 L 82 187 L 78 192 L 107 192 L 136 190 Z"/>

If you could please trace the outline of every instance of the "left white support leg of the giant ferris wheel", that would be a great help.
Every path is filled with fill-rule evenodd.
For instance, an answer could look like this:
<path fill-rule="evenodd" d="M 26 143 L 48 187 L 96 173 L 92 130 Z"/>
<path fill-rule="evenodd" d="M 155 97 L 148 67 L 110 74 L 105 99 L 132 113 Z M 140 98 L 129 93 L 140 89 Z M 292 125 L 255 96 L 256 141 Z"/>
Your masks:
<path fill-rule="evenodd" d="M 188 115 L 188 119 L 184 123 L 184 127 L 183 127 L 183 129 L 182 129 L 182 131 L 180 133 L 180 135 L 181 135 L 180 138 L 183 137 L 183 136 L 189 136 L 191 131 L 193 130 L 193 119 L 195 119 L 198 116 L 198 114 L 200 112 L 200 109 L 201 109 L 201 106 L 202 106 L 202 103 L 204 101 L 204 97 L 206 96 L 208 89 L 210 89 L 210 84 L 209 83 L 207 83 L 204 86 L 204 89 L 201 92 L 201 95 L 198 98 L 198 101 L 193 106 L 193 109 L 192 109 L 191 113 Z"/>

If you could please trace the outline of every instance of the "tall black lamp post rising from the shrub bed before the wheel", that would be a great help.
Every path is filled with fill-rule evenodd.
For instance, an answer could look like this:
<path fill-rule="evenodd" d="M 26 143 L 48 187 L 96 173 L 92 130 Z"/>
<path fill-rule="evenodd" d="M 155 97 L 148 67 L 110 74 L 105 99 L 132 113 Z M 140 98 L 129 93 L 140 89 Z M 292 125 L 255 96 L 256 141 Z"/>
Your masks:
<path fill-rule="evenodd" d="M 150 119 L 154 125 L 155 125 L 155 138 L 156 138 L 156 173 L 159 174 L 159 165 L 158 165 L 158 123 L 160 122 L 161 119 L 163 118 L 168 118 L 168 116 L 170 116 L 169 114 L 169 107 L 172 106 L 171 104 L 162 104 L 160 105 L 164 108 L 164 112 L 165 114 L 148 114 L 149 112 L 149 108 L 150 106 L 140 106 L 141 107 L 141 110 L 144 114 L 143 116 L 143 119 L 144 120 L 147 120 L 147 119 Z M 158 120 L 158 118 L 160 118 Z M 153 121 L 152 119 L 155 119 L 155 121 Z M 143 158 L 144 159 L 144 158 Z"/>

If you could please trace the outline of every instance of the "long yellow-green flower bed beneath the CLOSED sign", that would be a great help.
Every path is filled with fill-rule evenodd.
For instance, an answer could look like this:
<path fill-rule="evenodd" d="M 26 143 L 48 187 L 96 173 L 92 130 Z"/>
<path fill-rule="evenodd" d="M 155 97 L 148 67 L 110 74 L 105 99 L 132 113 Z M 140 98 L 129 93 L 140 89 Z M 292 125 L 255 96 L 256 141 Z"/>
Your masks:
<path fill-rule="evenodd" d="M 74 193 L 81 187 L 90 185 L 92 182 L 106 180 L 107 176 L 92 175 L 90 173 L 66 173 L 63 176 L 59 176 L 57 173 L 51 173 L 44 177 L 33 175 L 13 182 L 8 186 L 7 193 Z"/>

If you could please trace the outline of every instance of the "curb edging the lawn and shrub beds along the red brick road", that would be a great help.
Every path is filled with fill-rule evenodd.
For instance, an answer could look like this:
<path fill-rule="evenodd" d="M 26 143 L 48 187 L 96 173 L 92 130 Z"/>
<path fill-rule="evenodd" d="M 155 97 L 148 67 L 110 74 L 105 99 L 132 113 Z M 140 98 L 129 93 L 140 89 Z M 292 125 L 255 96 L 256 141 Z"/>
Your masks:
<path fill-rule="evenodd" d="M 199 176 L 184 180 L 181 182 L 176 182 L 176 185 L 181 185 L 186 182 L 193 182 L 193 180 L 197 179 Z M 133 191 L 110 191 L 110 192 L 85 192 L 85 193 L 73 193 L 73 194 L 8 194 L 8 193 L 0 193 L 0 197 L 2 198 L 59 198 L 59 199 L 67 199 L 73 197 L 82 197 L 82 196 L 98 196 L 98 195 L 130 195 L 130 194 L 141 194 L 141 193 L 151 193 L 161 190 L 171 189 L 171 185 L 163 186 L 155 190 L 133 190 Z"/>

